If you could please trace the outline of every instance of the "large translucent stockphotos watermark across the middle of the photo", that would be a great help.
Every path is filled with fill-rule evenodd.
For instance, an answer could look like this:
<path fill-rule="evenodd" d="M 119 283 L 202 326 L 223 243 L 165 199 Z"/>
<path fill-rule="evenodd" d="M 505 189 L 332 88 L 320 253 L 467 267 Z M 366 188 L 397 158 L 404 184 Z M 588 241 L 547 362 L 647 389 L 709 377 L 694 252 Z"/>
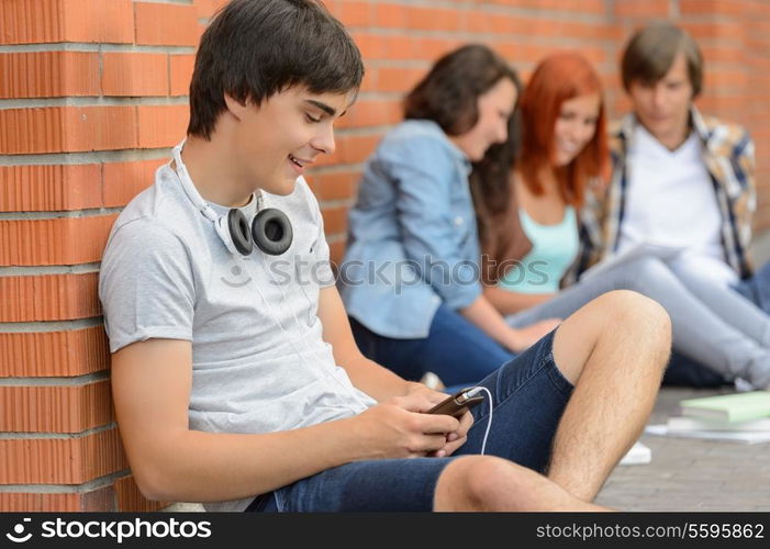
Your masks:
<path fill-rule="evenodd" d="M 249 257 L 233 258 L 232 264 L 227 266 L 227 274 L 222 276 L 220 280 L 231 288 L 244 288 L 254 280 L 253 269 L 259 269 L 274 285 L 326 287 L 339 283 L 346 287 L 391 287 L 397 295 L 400 295 L 404 288 L 425 282 L 433 287 L 476 285 L 487 280 L 501 279 L 514 285 L 545 287 L 549 283 L 547 261 L 496 261 L 488 256 L 483 256 L 480 261 L 455 262 L 426 256 L 422 260 L 350 260 L 342 265 L 295 257 L 259 264 L 260 261 L 254 261 Z"/>

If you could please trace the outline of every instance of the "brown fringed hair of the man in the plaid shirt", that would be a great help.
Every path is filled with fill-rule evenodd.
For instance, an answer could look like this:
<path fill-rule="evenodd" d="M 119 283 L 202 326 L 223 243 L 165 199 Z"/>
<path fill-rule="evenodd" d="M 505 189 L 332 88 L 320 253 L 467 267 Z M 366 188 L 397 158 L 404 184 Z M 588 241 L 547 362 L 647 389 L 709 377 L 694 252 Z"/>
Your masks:
<path fill-rule="evenodd" d="M 634 80 L 655 83 L 666 76 L 679 53 L 684 54 L 693 98 L 703 89 L 703 55 L 685 31 L 671 23 L 654 23 L 639 30 L 623 52 L 621 71 L 623 87 L 629 90 Z"/>

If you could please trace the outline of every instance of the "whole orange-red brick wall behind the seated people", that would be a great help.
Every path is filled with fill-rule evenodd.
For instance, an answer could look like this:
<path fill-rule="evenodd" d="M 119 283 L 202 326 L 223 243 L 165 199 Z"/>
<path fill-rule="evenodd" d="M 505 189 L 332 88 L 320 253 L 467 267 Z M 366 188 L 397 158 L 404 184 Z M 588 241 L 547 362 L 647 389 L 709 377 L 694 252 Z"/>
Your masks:
<path fill-rule="evenodd" d="M 0 511 L 152 509 L 118 437 L 96 294 L 110 226 L 183 135 L 194 46 L 222 0 L 0 2 Z M 309 176 L 333 258 L 362 163 L 442 53 L 487 43 L 527 76 L 579 48 L 627 103 L 616 61 L 650 18 L 691 31 L 704 111 L 757 142 L 758 228 L 770 227 L 770 1 L 330 0 L 367 65 L 337 152 Z M 52 490 L 53 486 L 53 490 Z"/>

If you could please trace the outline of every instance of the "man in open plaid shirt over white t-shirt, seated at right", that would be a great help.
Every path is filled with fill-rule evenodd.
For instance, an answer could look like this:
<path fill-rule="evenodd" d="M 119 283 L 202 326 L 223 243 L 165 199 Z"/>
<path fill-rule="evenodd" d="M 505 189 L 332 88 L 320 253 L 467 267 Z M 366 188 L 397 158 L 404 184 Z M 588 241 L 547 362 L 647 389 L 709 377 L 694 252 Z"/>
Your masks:
<path fill-rule="evenodd" d="M 740 294 L 770 313 L 770 264 L 755 273 L 749 257 L 754 143 L 741 126 L 694 107 L 703 83 L 698 45 L 668 23 L 647 26 L 626 46 L 622 78 L 633 112 L 611 128 L 612 179 L 588 197 L 567 281 L 639 243 L 666 243 L 684 249 L 669 265 L 674 272 L 735 290 L 725 292 L 725 307 Z M 725 381 L 676 354 L 668 377 L 695 385 Z"/>

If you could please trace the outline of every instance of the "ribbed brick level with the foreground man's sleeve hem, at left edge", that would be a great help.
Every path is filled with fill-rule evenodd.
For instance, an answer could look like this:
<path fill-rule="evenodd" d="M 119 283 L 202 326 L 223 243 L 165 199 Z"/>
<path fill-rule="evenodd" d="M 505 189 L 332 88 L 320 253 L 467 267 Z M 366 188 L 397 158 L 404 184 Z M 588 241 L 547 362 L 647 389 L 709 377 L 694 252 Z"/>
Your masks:
<path fill-rule="evenodd" d="M 0 378 L 86 376 L 110 367 L 104 327 L 0 333 Z"/>

